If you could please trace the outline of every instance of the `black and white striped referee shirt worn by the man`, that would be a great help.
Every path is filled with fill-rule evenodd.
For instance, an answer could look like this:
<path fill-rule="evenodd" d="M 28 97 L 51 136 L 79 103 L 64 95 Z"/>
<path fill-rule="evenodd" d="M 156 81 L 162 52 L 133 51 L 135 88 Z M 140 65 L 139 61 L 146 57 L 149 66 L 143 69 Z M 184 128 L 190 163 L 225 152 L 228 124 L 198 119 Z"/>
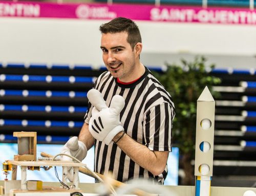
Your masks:
<path fill-rule="evenodd" d="M 107 106 L 110 106 L 114 95 L 121 95 L 125 99 L 120 121 L 127 135 L 150 150 L 172 151 L 174 103 L 169 93 L 147 68 L 139 80 L 127 85 L 118 83 L 110 72 L 104 72 L 96 80 L 94 88 L 101 92 Z M 89 102 L 84 117 L 88 124 L 91 111 Z M 94 167 L 101 174 L 111 171 L 112 178 L 121 182 L 140 177 L 163 184 L 167 176 L 167 165 L 161 175 L 154 176 L 126 156 L 114 142 L 105 145 L 98 140 L 95 141 Z"/>

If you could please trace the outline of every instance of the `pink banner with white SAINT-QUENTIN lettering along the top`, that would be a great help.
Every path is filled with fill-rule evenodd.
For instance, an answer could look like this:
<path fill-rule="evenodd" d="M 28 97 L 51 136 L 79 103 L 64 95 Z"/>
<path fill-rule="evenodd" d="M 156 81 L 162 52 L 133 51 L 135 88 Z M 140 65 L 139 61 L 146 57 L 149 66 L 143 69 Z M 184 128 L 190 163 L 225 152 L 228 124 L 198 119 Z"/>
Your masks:
<path fill-rule="evenodd" d="M 249 9 L 153 6 L 131 4 L 52 4 L 0 2 L 0 17 L 46 17 L 78 19 L 112 19 L 179 23 L 256 24 L 256 12 Z"/>

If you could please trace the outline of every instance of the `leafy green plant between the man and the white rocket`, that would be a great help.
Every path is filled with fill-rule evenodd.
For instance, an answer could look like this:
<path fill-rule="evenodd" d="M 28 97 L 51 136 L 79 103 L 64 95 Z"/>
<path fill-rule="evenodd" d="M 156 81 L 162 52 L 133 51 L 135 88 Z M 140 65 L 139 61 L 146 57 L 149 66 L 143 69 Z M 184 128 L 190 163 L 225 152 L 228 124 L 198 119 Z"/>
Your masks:
<path fill-rule="evenodd" d="M 173 97 L 176 116 L 173 123 L 173 144 L 179 147 L 180 166 L 185 178 L 181 185 L 194 185 L 194 166 L 191 160 L 195 158 L 196 142 L 196 112 L 197 99 L 208 86 L 212 96 L 219 94 L 212 91 L 212 86 L 221 82 L 220 78 L 211 76 L 209 72 L 215 65 L 206 66 L 205 57 L 195 57 L 193 62 L 184 59 L 181 64 L 166 64 L 164 74 L 154 73 L 165 89 Z"/>

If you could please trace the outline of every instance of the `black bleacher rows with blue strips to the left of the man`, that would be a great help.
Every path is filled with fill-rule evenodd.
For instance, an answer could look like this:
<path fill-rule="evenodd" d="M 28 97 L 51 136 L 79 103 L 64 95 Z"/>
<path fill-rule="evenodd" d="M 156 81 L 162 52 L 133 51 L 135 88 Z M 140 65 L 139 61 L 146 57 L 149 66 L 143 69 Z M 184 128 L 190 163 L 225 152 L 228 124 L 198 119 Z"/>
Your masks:
<path fill-rule="evenodd" d="M 0 64 L 0 141 L 36 131 L 38 143 L 65 143 L 78 135 L 87 91 L 104 70 L 59 64 Z M 49 139 L 50 138 L 50 139 Z"/>

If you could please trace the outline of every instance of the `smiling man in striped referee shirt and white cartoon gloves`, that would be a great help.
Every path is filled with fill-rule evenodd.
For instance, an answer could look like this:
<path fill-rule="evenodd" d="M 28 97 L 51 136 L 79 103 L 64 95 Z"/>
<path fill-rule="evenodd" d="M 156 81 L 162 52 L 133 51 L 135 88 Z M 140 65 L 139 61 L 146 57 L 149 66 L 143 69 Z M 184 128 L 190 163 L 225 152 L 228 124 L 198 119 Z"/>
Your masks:
<path fill-rule="evenodd" d="M 98 77 L 94 89 L 102 95 L 105 108 L 116 104 L 112 101 L 115 95 L 122 96 L 124 105 L 117 114 L 121 128 L 114 135 L 112 128 L 100 132 L 93 128 L 98 127 L 94 124 L 95 116 L 103 110 L 89 101 L 79 141 L 71 138 L 62 153 L 82 160 L 94 145 L 96 172 L 110 171 L 112 178 L 121 182 L 140 177 L 163 184 L 168 153 L 172 150 L 171 129 L 175 116 L 172 98 L 140 62 L 142 41 L 134 21 L 115 18 L 101 25 L 100 32 L 102 58 L 108 71 Z M 93 108 L 97 111 L 95 114 Z M 110 115 L 101 114 L 101 118 L 104 118 L 102 127 L 112 126 Z M 112 133 L 109 142 L 98 135 L 109 133 Z"/>

